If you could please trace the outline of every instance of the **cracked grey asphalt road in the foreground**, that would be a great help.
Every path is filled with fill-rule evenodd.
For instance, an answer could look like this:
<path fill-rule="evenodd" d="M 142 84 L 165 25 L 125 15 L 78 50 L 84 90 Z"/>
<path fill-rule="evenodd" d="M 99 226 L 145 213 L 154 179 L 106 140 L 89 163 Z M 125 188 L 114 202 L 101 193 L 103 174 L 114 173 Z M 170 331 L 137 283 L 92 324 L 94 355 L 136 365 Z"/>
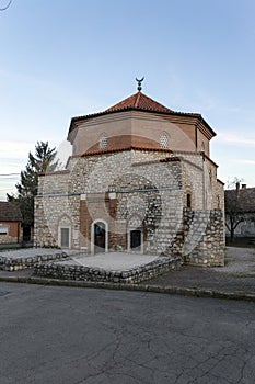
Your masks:
<path fill-rule="evenodd" d="M 0 283 L 0 384 L 254 384 L 255 304 Z"/>

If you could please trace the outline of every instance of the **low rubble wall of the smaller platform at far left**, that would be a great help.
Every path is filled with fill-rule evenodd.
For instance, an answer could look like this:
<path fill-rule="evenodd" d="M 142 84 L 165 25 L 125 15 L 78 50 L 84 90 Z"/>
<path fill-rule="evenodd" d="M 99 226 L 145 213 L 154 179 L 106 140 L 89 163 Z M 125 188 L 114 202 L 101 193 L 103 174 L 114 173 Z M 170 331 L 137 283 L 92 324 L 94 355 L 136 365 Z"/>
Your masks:
<path fill-rule="evenodd" d="M 0 253 L 0 270 L 3 271 L 19 271 L 27 268 L 34 268 L 37 263 L 44 263 L 49 260 L 59 260 L 68 258 L 68 255 L 61 250 L 58 253 L 38 253 L 34 256 L 22 256 L 22 257 L 12 257 L 1 256 Z"/>

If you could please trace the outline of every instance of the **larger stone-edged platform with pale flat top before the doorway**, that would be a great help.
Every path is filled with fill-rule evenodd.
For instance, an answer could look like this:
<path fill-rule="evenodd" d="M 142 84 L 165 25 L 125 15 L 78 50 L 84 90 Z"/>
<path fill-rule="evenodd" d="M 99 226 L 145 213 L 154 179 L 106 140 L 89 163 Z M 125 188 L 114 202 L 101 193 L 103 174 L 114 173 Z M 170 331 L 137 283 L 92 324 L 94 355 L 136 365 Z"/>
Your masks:
<path fill-rule="evenodd" d="M 35 266 L 34 275 L 49 279 L 140 283 L 181 267 L 181 259 L 126 252 L 100 253 Z"/>

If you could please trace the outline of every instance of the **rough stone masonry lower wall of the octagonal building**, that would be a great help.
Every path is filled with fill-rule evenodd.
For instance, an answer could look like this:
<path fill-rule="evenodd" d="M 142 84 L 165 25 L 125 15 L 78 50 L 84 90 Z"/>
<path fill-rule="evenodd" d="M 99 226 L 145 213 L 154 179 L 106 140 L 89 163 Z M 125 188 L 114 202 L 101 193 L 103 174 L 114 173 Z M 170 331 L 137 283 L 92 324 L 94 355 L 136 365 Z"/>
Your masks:
<path fill-rule="evenodd" d="M 144 253 L 221 266 L 224 226 L 215 194 L 222 184 L 213 163 L 210 167 L 200 155 L 182 159 L 148 150 L 73 158 L 69 173 L 56 174 L 53 190 L 54 174 L 40 178 L 44 193 L 35 203 L 35 242 L 58 245 L 58 228 L 65 224 L 71 228 L 71 247 L 90 251 L 92 223 L 103 219 L 108 250 L 130 250 L 129 230 L 139 227 Z M 187 192 L 193 195 L 192 210 L 185 210 Z"/>

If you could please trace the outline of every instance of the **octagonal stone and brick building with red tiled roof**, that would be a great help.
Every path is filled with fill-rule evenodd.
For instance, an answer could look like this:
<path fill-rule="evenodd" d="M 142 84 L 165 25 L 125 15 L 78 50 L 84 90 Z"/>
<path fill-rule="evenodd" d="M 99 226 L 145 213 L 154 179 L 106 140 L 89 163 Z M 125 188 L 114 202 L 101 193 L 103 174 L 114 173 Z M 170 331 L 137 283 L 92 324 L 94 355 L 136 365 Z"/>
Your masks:
<path fill-rule="evenodd" d="M 66 169 L 39 177 L 35 246 L 222 266 L 224 195 L 210 158 L 213 136 L 200 114 L 172 111 L 141 90 L 73 117 Z"/>

